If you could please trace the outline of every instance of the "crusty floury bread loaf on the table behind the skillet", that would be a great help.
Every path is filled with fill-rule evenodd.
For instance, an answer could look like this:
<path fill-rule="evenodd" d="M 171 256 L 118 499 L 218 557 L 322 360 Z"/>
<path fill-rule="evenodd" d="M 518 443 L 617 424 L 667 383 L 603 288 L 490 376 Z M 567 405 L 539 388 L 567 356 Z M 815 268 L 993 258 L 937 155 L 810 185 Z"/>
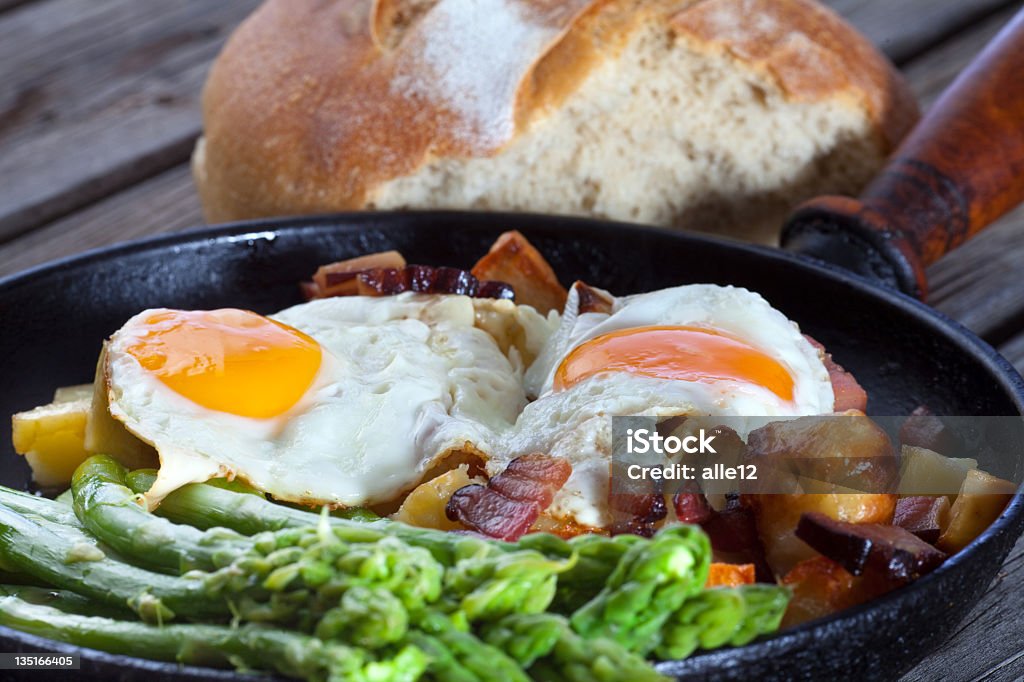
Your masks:
<path fill-rule="evenodd" d="M 268 0 L 203 103 L 211 221 L 473 208 L 757 241 L 859 190 L 918 114 L 813 0 Z"/>

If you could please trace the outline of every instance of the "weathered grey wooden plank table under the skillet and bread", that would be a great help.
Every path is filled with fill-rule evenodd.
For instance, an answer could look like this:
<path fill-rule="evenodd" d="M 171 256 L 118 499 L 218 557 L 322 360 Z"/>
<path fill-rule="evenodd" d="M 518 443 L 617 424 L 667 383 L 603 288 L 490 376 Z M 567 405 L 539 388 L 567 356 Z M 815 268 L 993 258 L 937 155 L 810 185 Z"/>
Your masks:
<path fill-rule="evenodd" d="M 188 171 L 200 88 L 230 30 L 257 4 L 0 0 L 0 275 L 203 223 Z M 1022 3 L 828 4 L 882 46 L 927 105 Z M 931 303 L 1018 369 L 1022 266 L 1024 209 L 930 272 Z M 1022 611 L 1024 541 L 953 638 L 905 679 L 1021 679 Z"/>

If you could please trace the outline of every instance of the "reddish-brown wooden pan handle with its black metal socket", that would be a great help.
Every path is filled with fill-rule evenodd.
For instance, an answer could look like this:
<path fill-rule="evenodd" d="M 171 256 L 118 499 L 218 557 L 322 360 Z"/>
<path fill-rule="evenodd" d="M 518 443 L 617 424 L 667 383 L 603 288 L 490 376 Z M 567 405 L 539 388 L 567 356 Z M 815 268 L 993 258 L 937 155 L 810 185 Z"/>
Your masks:
<path fill-rule="evenodd" d="M 782 246 L 924 299 L 925 267 L 1024 201 L 1024 10 L 896 150 L 859 200 L 799 206 Z"/>

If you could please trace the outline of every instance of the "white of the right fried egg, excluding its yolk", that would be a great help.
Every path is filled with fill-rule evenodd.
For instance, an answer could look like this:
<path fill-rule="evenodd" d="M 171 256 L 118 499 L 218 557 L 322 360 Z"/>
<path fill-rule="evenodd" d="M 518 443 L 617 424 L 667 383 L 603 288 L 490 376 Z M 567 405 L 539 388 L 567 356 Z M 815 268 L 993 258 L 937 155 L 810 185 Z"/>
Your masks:
<path fill-rule="evenodd" d="M 611 522 L 607 508 L 612 416 L 729 416 L 751 418 L 827 414 L 835 395 L 821 355 L 760 295 L 735 287 L 688 285 L 613 299 L 610 313 L 579 311 L 577 290 L 562 324 L 525 375 L 527 394 L 538 398 L 520 414 L 501 454 L 488 469 L 531 452 L 563 457 L 572 474 L 548 513 L 583 525 Z M 577 346 L 625 329 L 648 326 L 707 327 L 725 332 L 780 363 L 794 379 L 792 400 L 762 386 L 732 381 L 678 381 L 625 372 L 597 374 L 553 390 L 562 360 Z M 735 425 L 735 420 L 730 420 Z"/>

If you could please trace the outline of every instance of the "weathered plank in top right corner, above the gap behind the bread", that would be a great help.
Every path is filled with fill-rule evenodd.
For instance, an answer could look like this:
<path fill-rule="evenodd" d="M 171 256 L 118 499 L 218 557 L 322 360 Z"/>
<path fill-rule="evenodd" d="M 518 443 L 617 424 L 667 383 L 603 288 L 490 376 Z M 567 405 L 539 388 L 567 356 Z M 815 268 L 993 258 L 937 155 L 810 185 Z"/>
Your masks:
<path fill-rule="evenodd" d="M 918 56 L 965 26 L 1009 4 L 1012 0 L 824 0 L 849 18 L 896 63 Z"/>

